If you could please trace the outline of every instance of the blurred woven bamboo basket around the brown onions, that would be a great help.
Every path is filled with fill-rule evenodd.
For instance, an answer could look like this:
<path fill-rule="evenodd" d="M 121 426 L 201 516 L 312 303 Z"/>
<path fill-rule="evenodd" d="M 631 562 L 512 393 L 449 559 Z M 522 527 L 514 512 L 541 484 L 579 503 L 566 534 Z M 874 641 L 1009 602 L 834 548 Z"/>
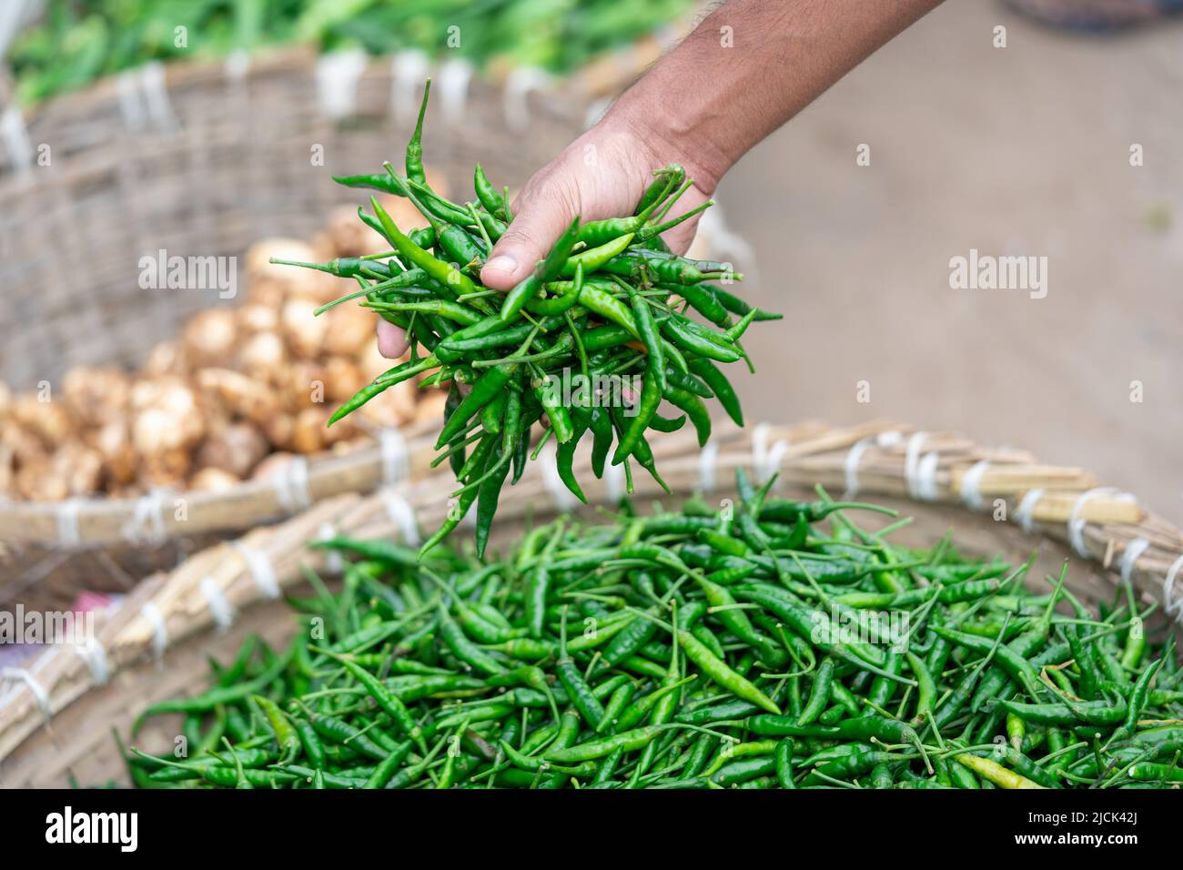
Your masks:
<path fill-rule="evenodd" d="M 24 120 L 22 154 L 11 137 L 0 148 L 0 382 L 25 389 L 75 365 L 141 362 L 219 296 L 144 291 L 140 258 L 159 249 L 241 257 L 260 237 L 310 238 L 334 206 L 363 201 L 330 176 L 379 167 L 408 138 L 425 76 L 435 80 L 429 168 L 458 191 L 478 160 L 521 185 L 584 129 L 596 94 L 658 51 L 654 43 L 567 83 L 512 72 L 492 83 L 418 56 L 289 50 L 149 66 L 51 101 Z M 0 502 L 0 604 L 62 608 L 83 588 L 123 591 L 219 536 L 419 478 L 422 434 L 388 434 L 373 449 L 297 462 L 274 484 L 218 494 Z"/>

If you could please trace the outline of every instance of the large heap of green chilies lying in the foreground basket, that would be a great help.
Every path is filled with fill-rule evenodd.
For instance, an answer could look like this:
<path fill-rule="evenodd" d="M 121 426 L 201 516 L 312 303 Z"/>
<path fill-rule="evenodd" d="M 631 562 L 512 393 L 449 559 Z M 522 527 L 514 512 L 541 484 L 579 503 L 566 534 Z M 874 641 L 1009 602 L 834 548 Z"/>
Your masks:
<path fill-rule="evenodd" d="M 496 561 L 387 541 L 248 639 L 144 787 L 1146 788 L 1183 782 L 1174 638 L 1033 562 L 917 550 L 868 504 L 700 500 L 563 517 Z"/>

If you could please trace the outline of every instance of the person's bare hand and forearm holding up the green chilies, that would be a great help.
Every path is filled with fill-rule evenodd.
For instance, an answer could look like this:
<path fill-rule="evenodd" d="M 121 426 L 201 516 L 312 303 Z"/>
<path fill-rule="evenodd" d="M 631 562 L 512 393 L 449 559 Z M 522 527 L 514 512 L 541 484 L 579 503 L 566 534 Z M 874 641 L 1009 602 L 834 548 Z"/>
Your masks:
<path fill-rule="evenodd" d="M 749 148 L 939 2 L 728 0 L 530 179 L 481 282 L 511 290 L 576 214 L 582 221 L 632 214 L 651 173 L 667 163 L 681 163 L 694 186 L 666 217 L 702 205 Z M 741 34 L 739 41 L 720 34 Z M 662 238 L 683 253 L 697 223 L 696 217 Z M 379 323 L 384 355 L 406 347 L 400 329 Z"/>

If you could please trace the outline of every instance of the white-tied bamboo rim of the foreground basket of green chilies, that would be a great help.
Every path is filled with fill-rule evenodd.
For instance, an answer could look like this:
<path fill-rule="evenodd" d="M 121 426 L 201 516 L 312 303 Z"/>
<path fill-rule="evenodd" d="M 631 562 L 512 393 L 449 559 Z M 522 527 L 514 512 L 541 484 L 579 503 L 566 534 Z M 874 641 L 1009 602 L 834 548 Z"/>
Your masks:
<path fill-rule="evenodd" d="M 1097 562 L 1110 582 L 1130 581 L 1144 597 L 1165 598 L 1166 614 L 1183 624 L 1183 589 L 1176 597 L 1172 588 L 1183 567 L 1183 531 L 1124 494 L 1095 486 L 1079 469 L 1039 465 L 1022 451 L 984 450 L 953 433 L 885 421 L 846 427 L 761 424 L 750 433 L 726 426 L 702 450 L 687 433 L 654 438 L 653 450 L 679 494 L 712 491 L 718 472 L 743 466 L 763 479 L 777 472 L 795 485 L 814 481 L 849 485 L 853 476 L 856 491 L 976 510 L 980 516 L 985 495 L 1002 498 L 1007 505 L 1026 501 L 1026 515 L 1016 520 L 1015 511 L 1008 511 L 1004 518 L 1024 530 L 1037 529 L 1046 537 L 1067 541 L 1078 555 Z M 502 514 L 506 521 L 519 518 L 526 504 L 531 510 L 541 505 L 542 511 L 549 508 L 554 513 L 573 507 L 548 465 L 552 462 L 552 451 L 547 451 L 542 462 L 529 464 L 526 476 L 511 490 L 515 497 L 506 500 L 512 504 L 503 505 L 509 508 Z M 588 468 L 586 456 L 578 455 L 577 463 L 578 470 Z M 1033 479 L 1068 479 L 1077 486 L 1032 489 L 1028 484 Z M 589 496 L 592 501 L 610 500 L 618 485 L 620 482 L 609 476 L 589 486 Z M 450 489 L 450 481 L 434 478 L 374 495 L 338 495 L 283 523 L 202 550 L 173 572 L 148 578 L 104 616 L 96 642 L 98 655 L 95 650 L 52 647 L 19 674 L 12 672 L 18 669 L 5 674 L 9 685 L 4 692 L 0 683 L 0 762 L 43 721 L 123 668 L 153 653 L 163 660 L 172 644 L 209 631 L 238 608 L 278 597 L 283 586 L 298 580 L 302 563 L 324 568 L 329 554 L 304 548 L 324 523 L 362 537 L 406 536 L 414 527 L 405 511 L 414 511 L 412 516 L 424 522 L 438 522 L 447 510 Z M 1040 489 L 1043 495 L 1032 501 L 1029 494 Z M 639 481 L 636 490 L 639 498 L 660 495 L 648 481 Z M 1067 517 L 1065 498 L 1071 505 Z M 1049 524 L 1053 521 L 1055 524 Z M 261 582 L 264 574 L 271 578 L 270 591 Z M 225 607 L 214 606 L 214 597 Z"/>

